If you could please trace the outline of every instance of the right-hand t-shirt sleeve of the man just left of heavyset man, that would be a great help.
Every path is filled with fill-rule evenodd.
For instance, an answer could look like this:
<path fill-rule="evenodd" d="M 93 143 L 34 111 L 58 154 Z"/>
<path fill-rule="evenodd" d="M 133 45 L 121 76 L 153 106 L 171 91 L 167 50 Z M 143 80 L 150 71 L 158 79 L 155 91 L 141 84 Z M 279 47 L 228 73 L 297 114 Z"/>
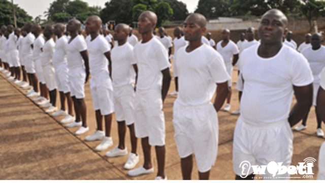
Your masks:
<path fill-rule="evenodd" d="M 209 64 L 209 73 L 215 83 L 222 83 L 231 79 L 225 69 L 223 58 L 219 54 L 211 55 L 211 62 Z"/>

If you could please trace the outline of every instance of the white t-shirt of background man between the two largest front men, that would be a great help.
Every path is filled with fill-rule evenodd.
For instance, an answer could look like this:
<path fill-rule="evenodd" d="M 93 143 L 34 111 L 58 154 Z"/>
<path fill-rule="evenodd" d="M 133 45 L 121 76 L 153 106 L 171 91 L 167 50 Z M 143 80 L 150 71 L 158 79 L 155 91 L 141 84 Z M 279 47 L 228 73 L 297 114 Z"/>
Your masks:
<path fill-rule="evenodd" d="M 221 46 L 221 42 L 217 43 L 217 51 L 222 55 L 223 61 L 226 68 L 233 67 L 233 55 L 238 54 L 239 50 L 237 45 L 232 41 L 229 40 L 228 44 L 225 47 Z"/>

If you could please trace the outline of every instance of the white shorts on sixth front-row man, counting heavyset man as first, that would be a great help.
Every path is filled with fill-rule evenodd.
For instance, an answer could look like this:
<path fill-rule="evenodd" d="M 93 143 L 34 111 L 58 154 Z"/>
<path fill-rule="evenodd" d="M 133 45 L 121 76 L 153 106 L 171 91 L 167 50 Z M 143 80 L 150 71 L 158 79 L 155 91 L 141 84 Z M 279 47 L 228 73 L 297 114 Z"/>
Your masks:
<path fill-rule="evenodd" d="M 71 97 L 76 97 L 77 99 L 85 98 L 85 81 L 86 81 L 86 71 L 84 68 L 76 68 L 69 70 L 69 87 L 71 92 Z"/>

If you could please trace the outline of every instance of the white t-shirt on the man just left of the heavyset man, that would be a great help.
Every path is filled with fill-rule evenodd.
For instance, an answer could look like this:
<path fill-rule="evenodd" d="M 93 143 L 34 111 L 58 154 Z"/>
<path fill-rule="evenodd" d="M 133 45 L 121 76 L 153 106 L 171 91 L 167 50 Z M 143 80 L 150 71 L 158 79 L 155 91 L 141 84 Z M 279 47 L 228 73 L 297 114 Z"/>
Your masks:
<path fill-rule="evenodd" d="M 202 105 L 211 101 L 216 83 L 230 79 L 222 56 L 210 45 L 186 52 L 182 47 L 177 52 L 174 74 L 178 77 L 177 101 L 183 105 Z M 196 89 L 194 89 L 196 88 Z"/>

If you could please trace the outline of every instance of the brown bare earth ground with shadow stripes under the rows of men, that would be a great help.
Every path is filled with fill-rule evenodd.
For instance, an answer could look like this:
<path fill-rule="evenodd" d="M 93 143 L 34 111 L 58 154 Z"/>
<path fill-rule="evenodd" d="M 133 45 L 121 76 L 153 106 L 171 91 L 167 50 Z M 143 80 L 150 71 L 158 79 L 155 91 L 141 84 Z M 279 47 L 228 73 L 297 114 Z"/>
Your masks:
<path fill-rule="evenodd" d="M 237 79 L 234 72 L 234 81 Z M 174 81 L 170 92 L 174 90 Z M 0 74 L 0 179 L 154 179 L 156 160 L 152 148 L 152 162 L 155 173 L 139 177 L 127 176 L 123 165 L 127 157 L 107 158 L 106 151 L 96 152 L 93 148 L 100 142 L 85 142 L 85 136 L 95 130 L 95 115 L 89 89 L 86 84 L 87 119 L 90 131 L 81 136 L 73 135 L 77 128 L 66 129 L 58 121 L 63 117 L 53 118 L 46 114 L 30 99 L 25 97 L 26 91 L 7 81 Z M 180 159 L 174 140 L 172 125 L 172 107 L 176 96 L 168 96 L 164 111 L 166 118 L 166 175 L 168 179 L 181 179 Z M 57 99 L 57 105 L 59 101 Z M 231 111 L 238 108 L 238 92 L 233 83 Z M 211 179 L 234 179 L 232 165 L 232 145 L 236 115 L 220 111 L 219 116 L 219 147 L 215 166 L 211 170 Z M 294 156 L 292 165 L 298 165 L 307 157 L 318 160 L 320 144 L 324 141 L 315 136 L 316 119 L 314 108 L 308 118 L 308 129 L 294 132 Z M 126 146 L 131 149 L 128 132 Z M 117 145 L 117 125 L 115 118 L 112 123 L 112 137 Z M 140 140 L 138 153 L 143 164 Z M 318 172 L 317 161 L 314 163 L 313 178 Z M 193 179 L 198 179 L 194 164 Z"/>

